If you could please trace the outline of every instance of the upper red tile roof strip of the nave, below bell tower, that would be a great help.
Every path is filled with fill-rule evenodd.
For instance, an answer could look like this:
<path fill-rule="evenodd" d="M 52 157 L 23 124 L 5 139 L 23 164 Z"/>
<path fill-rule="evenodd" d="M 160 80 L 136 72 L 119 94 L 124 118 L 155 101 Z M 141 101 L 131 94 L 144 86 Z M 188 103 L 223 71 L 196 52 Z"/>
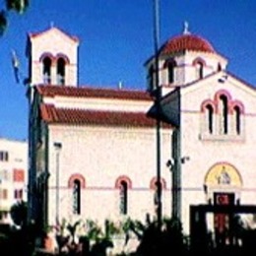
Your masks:
<path fill-rule="evenodd" d="M 37 92 L 41 96 L 75 96 L 75 97 L 101 97 L 101 98 L 119 98 L 119 99 L 136 99 L 150 100 L 153 98 L 149 93 L 144 91 L 114 90 L 88 87 L 68 87 L 68 86 L 36 86 Z"/>

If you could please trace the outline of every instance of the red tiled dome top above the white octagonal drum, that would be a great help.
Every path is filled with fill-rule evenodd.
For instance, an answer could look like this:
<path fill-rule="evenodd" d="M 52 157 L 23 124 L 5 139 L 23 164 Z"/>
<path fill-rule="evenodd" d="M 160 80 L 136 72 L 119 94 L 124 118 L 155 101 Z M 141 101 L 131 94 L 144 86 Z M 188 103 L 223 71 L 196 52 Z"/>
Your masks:
<path fill-rule="evenodd" d="M 201 36 L 186 33 L 174 36 L 160 48 L 160 55 L 183 52 L 185 50 L 215 53 L 212 44 Z"/>

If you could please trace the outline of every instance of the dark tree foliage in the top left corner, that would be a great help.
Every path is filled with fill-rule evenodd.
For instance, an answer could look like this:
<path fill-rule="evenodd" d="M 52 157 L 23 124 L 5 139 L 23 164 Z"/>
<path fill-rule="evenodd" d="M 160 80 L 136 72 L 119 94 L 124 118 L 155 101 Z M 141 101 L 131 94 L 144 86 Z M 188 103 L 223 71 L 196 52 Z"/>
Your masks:
<path fill-rule="evenodd" d="M 8 14 L 12 11 L 22 15 L 30 5 L 30 0 L 2 0 L 3 7 L 0 10 L 0 35 L 3 35 L 8 27 Z"/>

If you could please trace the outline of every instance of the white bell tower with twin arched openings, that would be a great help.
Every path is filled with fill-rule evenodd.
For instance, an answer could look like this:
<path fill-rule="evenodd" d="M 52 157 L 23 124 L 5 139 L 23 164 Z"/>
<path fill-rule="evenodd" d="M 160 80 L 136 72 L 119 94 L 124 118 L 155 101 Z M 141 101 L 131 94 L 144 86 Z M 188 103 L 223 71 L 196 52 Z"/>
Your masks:
<path fill-rule="evenodd" d="M 79 39 L 55 27 L 29 33 L 27 57 L 32 85 L 78 86 Z"/>

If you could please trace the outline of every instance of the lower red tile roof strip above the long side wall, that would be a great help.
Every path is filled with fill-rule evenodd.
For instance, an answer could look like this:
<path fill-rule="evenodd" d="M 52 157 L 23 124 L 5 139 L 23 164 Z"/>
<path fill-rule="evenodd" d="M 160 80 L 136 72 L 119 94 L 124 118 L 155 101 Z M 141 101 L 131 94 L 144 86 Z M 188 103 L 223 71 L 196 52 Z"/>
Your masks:
<path fill-rule="evenodd" d="M 156 120 L 143 112 L 96 111 L 40 105 L 41 118 L 49 124 L 154 127 Z M 164 124 L 164 127 L 170 127 Z"/>

